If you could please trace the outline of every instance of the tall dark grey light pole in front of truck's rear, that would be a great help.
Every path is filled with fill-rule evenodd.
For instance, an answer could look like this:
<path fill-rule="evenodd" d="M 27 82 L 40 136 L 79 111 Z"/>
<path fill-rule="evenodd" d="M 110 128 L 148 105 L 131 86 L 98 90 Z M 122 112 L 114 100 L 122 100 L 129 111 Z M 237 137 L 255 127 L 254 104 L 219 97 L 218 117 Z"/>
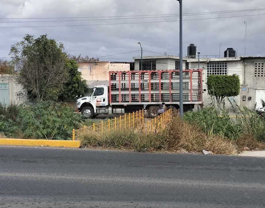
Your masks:
<path fill-rule="evenodd" d="M 180 117 L 183 119 L 182 0 L 180 3 Z"/>

